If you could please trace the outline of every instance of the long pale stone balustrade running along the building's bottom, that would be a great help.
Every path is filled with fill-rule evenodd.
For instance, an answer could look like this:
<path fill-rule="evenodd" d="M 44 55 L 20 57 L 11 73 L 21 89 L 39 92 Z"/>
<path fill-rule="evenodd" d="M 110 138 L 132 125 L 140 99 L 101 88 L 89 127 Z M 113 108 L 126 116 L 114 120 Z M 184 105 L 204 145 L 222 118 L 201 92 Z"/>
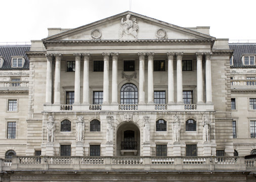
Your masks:
<path fill-rule="evenodd" d="M 246 170 L 254 167 L 255 159 L 243 157 L 86 157 L 86 156 L 13 156 L 12 162 L 0 159 L 2 170 Z M 124 166 L 124 167 L 120 167 Z"/>

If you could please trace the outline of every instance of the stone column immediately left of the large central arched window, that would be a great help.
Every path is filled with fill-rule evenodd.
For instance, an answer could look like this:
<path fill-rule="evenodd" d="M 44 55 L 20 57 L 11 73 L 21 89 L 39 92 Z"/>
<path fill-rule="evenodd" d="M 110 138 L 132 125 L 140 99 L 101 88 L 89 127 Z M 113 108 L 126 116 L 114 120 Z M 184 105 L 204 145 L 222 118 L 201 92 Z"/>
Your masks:
<path fill-rule="evenodd" d="M 117 96 L 118 96 L 118 90 L 117 90 L 117 58 L 118 53 L 111 53 L 112 56 L 112 104 L 118 104 L 117 103 Z"/>

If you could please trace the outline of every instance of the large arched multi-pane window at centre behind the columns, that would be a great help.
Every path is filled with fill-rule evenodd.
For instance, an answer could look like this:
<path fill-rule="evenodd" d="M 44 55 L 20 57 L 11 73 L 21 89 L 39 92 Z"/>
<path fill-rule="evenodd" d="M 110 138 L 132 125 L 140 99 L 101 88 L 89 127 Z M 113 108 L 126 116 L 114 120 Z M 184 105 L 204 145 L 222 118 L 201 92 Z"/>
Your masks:
<path fill-rule="evenodd" d="M 121 87 L 121 104 L 138 104 L 138 88 L 132 83 Z"/>

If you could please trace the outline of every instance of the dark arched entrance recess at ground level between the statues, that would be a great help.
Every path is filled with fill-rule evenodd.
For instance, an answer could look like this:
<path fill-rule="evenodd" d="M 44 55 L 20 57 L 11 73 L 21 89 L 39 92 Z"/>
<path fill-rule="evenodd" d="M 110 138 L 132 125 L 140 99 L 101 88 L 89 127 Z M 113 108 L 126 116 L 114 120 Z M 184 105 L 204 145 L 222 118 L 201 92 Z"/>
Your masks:
<path fill-rule="evenodd" d="M 140 129 L 133 122 L 122 122 L 116 134 L 117 156 L 140 156 Z"/>

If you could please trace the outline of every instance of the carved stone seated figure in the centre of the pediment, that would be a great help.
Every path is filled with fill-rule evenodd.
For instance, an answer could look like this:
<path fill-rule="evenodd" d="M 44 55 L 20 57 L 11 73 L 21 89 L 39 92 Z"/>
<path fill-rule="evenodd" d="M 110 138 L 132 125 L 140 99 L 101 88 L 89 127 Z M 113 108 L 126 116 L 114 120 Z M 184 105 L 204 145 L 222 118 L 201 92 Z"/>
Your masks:
<path fill-rule="evenodd" d="M 121 19 L 121 30 L 119 33 L 119 38 L 137 38 L 137 30 L 138 30 L 138 24 L 135 17 L 130 20 L 131 15 L 126 15 L 126 20 L 123 21 L 123 18 Z"/>

